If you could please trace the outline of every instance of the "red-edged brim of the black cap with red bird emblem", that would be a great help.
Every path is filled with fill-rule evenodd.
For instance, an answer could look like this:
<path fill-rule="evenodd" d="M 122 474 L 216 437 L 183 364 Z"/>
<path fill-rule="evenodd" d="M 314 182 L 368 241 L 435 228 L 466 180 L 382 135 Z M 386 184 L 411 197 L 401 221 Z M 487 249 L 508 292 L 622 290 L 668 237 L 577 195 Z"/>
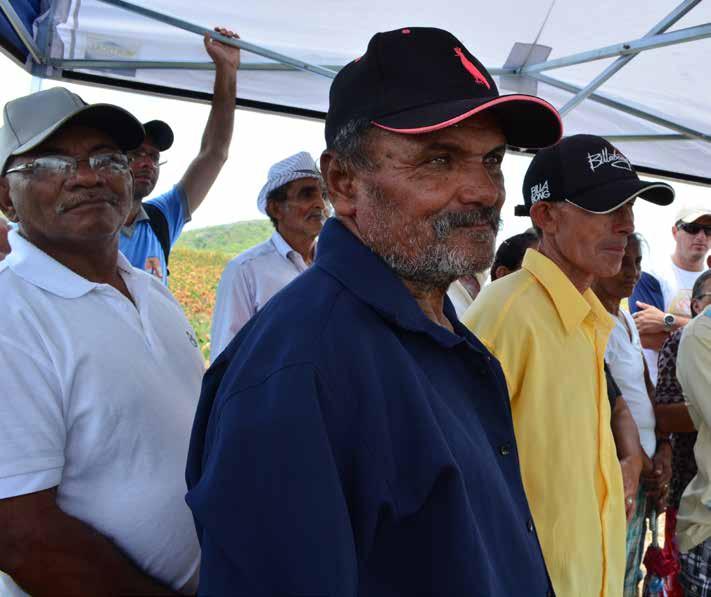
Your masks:
<path fill-rule="evenodd" d="M 418 106 L 377 118 L 379 128 L 405 135 L 438 131 L 481 112 L 491 112 L 506 142 L 514 147 L 537 149 L 557 143 L 563 136 L 558 111 L 532 95 L 503 95 L 481 100 L 463 99 Z"/>

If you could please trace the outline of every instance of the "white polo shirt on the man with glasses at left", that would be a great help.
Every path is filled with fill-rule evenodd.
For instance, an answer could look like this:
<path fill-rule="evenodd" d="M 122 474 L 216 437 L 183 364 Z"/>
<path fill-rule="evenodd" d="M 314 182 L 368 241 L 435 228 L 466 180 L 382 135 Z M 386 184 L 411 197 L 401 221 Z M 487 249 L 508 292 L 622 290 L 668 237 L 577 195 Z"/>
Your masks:
<path fill-rule="evenodd" d="M 194 588 L 184 501 L 204 369 L 157 279 L 119 254 L 135 305 L 21 237 L 0 262 L 0 499 L 57 487 L 59 507 L 148 575 Z M 187 586 L 186 586 L 187 585 Z"/>

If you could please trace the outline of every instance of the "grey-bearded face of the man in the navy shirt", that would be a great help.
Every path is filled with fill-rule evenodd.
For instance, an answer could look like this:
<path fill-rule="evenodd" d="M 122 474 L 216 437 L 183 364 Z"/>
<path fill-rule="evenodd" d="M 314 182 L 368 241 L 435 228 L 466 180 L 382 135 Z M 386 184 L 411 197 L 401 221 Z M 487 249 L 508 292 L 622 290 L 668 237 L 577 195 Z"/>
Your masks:
<path fill-rule="evenodd" d="M 491 265 L 504 202 L 506 139 L 488 115 L 423 135 L 377 131 L 354 220 L 402 278 L 446 288 Z"/>

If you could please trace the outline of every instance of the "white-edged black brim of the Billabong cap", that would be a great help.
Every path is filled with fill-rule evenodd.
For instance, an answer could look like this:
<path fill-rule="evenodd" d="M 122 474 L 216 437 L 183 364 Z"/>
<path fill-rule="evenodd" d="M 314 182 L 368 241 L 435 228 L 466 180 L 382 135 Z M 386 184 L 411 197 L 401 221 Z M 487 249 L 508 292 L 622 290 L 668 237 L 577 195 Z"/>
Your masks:
<path fill-rule="evenodd" d="M 607 214 L 637 197 L 656 205 L 669 205 L 674 201 L 674 189 L 664 182 L 616 180 L 566 200 L 585 211 Z"/>

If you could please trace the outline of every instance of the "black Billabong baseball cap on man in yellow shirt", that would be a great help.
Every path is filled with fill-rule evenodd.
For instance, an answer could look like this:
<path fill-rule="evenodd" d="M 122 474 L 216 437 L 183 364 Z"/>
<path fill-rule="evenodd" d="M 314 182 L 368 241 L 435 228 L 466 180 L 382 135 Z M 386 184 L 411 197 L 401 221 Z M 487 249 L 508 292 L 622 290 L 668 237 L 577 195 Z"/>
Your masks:
<path fill-rule="evenodd" d="M 606 214 L 636 197 L 669 205 L 674 189 L 640 180 L 624 154 L 602 137 L 572 135 L 535 155 L 523 179 L 524 204 L 517 205 L 515 213 L 530 215 L 539 201 L 567 201 Z"/>

